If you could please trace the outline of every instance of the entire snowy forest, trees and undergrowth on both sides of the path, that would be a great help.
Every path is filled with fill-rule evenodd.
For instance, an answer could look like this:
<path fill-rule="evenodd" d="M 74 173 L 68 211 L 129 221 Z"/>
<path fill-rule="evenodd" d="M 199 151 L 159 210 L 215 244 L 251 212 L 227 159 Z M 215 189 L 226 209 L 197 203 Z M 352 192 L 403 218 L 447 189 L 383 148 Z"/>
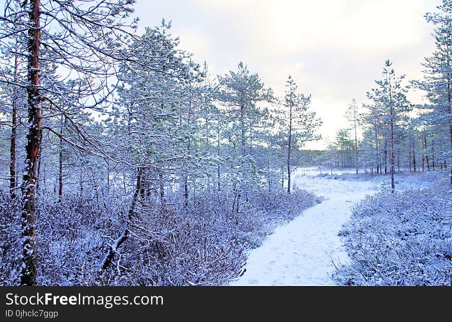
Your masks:
<path fill-rule="evenodd" d="M 326 199 L 297 184 L 302 167 L 381 183 L 337 232 L 351 261 L 336 285 L 452 285 L 452 2 L 425 15 L 424 77 L 382 62 L 325 150 L 306 148 L 322 120 L 292 75 L 285 93 L 245 62 L 212 75 L 171 22 L 138 34 L 134 3 L 5 1 L 1 286 L 228 285 Z M 412 177 L 428 186 L 400 190 Z"/>

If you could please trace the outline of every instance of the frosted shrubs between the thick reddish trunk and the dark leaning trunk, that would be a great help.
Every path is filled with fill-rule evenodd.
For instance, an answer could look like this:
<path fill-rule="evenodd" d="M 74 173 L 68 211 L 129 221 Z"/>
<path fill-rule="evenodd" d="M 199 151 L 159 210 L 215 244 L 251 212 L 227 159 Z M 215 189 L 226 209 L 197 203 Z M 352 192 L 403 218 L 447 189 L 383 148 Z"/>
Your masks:
<path fill-rule="evenodd" d="M 91 285 L 103 259 L 105 235 L 122 229 L 126 200 L 37 199 L 36 249 L 39 285 Z"/>

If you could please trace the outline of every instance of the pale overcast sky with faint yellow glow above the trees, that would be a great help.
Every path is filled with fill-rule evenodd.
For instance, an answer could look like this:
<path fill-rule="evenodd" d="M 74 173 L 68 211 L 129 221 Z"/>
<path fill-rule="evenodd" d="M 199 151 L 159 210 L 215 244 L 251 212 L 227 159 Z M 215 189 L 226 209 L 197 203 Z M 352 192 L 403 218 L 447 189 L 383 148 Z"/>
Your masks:
<path fill-rule="evenodd" d="M 324 121 L 323 136 L 347 127 L 352 99 L 381 78 L 390 59 L 398 74 L 417 79 L 435 48 L 424 14 L 441 0 L 138 0 L 140 32 L 172 21 L 180 48 L 206 61 L 212 75 L 236 70 L 241 61 L 267 87 L 283 95 L 289 74 Z M 410 93 L 419 103 L 421 93 Z M 325 140 L 310 147 L 323 147 Z"/>

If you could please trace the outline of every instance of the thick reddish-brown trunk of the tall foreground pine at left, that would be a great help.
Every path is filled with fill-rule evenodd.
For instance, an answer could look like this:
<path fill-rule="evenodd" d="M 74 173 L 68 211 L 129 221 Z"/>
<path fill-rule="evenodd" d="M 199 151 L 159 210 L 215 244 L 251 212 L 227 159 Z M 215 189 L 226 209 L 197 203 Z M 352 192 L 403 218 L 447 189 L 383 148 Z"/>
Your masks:
<path fill-rule="evenodd" d="M 36 281 L 35 183 L 37 155 L 41 145 L 41 94 L 39 92 L 40 0 L 30 0 L 28 29 L 28 135 L 22 187 L 22 271 L 21 285 Z"/>

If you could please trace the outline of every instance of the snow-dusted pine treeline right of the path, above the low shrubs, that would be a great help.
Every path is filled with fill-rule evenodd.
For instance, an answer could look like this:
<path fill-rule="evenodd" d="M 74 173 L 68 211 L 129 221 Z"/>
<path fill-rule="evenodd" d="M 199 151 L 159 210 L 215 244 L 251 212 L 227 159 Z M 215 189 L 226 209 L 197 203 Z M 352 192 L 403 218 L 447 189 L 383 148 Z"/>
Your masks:
<path fill-rule="evenodd" d="M 370 104 L 360 108 L 353 100 L 347 109 L 350 127 L 337 132 L 323 162 L 341 167 L 363 168 L 365 172 L 391 174 L 398 171 L 447 169 L 452 185 L 452 60 L 450 53 L 451 5 L 443 1 L 439 13 L 427 13 L 435 25 L 436 50 L 425 58 L 424 78 L 403 84 L 388 60 L 382 79 L 367 92 Z M 415 105 L 406 93 L 412 88 L 426 92 L 428 103 Z M 357 140 L 357 129 L 362 138 Z"/>

